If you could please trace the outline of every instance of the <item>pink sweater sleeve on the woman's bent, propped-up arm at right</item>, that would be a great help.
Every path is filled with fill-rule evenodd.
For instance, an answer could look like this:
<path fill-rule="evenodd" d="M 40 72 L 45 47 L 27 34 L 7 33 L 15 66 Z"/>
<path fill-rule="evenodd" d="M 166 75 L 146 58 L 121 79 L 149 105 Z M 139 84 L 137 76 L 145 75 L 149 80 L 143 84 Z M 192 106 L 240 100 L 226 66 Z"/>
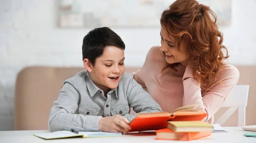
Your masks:
<path fill-rule="evenodd" d="M 230 91 L 237 84 L 239 71 L 230 64 L 224 65 L 223 69 L 216 74 L 217 81 L 209 91 L 201 93 L 200 83 L 194 78 L 192 67 L 188 65 L 183 76 L 183 106 L 198 104 L 201 109 L 208 113 L 204 121 L 208 121 L 224 103 Z M 218 80 L 219 77 L 219 80 Z"/>

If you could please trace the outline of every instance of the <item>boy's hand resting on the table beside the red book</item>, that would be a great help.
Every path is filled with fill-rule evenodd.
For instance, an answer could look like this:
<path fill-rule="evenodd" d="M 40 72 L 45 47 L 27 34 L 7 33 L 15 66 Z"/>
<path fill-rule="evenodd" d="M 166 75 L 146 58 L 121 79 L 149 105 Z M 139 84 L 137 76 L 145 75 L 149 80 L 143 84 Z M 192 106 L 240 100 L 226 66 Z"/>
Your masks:
<path fill-rule="evenodd" d="M 129 121 L 120 115 L 102 117 L 99 120 L 99 131 L 103 132 L 129 132 Z"/>

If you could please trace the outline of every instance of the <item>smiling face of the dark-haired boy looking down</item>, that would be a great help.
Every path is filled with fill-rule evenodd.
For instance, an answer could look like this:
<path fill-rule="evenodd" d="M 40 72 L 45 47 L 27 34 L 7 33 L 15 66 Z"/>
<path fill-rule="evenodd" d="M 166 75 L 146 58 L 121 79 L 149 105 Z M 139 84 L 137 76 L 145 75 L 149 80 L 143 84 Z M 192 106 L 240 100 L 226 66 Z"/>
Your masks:
<path fill-rule="evenodd" d="M 107 46 L 103 50 L 102 56 L 99 56 L 94 65 L 90 64 L 90 68 L 85 68 L 90 73 L 93 83 L 102 89 L 108 91 L 118 86 L 122 75 L 125 72 L 124 50 L 115 46 Z"/>

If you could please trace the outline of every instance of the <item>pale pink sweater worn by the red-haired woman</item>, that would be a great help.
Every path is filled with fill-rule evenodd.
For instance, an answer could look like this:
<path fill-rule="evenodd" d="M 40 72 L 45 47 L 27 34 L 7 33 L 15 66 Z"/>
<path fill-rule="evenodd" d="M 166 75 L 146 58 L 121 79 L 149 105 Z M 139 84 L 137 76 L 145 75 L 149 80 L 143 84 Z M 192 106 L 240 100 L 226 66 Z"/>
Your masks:
<path fill-rule="evenodd" d="M 204 121 L 211 124 L 213 115 L 239 79 L 237 68 L 226 63 L 223 69 L 216 73 L 217 80 L 210 90 L 206 91 L 201 89 L 200 83 L 194 79 L 190 66 L 184 67 L 180 64 L 176 67 L 177 72 L 167 68 L 160 73 L 164 67 L 166 61 L 163 52 L 159 47 L 153 47 L 149 50 L 143 67 L 134 75 L 134 79 L 145 87 L 163 111 L 172 112 L 178 107 L 199 104 L 198 108 L 208 113 Z"/>

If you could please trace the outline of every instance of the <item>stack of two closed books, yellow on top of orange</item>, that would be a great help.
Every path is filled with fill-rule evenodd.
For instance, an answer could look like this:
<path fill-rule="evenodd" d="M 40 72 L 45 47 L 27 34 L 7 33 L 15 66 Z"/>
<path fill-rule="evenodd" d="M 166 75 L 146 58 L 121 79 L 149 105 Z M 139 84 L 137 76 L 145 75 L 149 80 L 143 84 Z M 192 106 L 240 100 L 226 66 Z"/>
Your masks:
<path fill-rule="evenodd" d="M 196 140 L 212 134 L 213 126 L 203 121 L 167 121 L 165 129 L 156 130 L 158 140 Z"/>

